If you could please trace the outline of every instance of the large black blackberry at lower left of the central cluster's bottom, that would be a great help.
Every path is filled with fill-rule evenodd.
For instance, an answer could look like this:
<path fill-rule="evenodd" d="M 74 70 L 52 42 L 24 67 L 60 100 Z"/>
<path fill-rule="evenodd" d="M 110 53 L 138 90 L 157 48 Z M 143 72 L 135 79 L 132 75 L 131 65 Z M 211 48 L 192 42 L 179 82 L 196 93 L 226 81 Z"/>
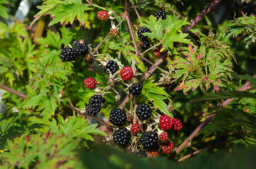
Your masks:
<path fill-rule="evenodd" d="M 132 137 L 131 132 L 125 127 L 121 127 L 118 130 L 114 131 L 112 136 L 115 144 L 123 147 L 127 146 L 130 143 Z"/>

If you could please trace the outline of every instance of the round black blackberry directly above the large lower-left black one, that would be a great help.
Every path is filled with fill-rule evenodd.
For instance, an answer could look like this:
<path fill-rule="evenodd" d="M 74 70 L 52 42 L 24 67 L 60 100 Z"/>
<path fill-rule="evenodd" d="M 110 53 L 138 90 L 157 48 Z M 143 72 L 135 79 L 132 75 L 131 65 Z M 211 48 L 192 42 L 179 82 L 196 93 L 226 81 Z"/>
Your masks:
<path fill-rule="evenodd" d="M 120 127 L 127 121 L 126 113 L 121 109 L 113 109 L 110 112 L 109 121 L 115 126 Z"/>

